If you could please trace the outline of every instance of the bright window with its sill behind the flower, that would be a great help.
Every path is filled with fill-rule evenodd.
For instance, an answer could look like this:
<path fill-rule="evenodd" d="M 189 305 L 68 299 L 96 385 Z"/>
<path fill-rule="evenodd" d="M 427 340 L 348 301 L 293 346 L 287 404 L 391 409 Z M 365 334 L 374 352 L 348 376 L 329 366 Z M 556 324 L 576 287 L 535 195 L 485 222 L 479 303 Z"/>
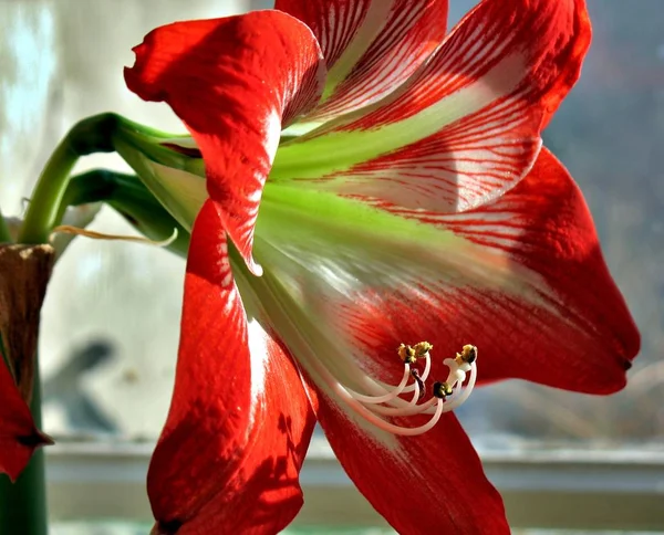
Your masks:
<path fill-rule="evenodd" d="M 452 1 L 452 20 L 474 3 Z M 588 3 L 593 45 L 544 141 L 585 195 L 641 328 L 642 354 L 627 388 L 611 398 L 512 381 L 475 394 L 459 417 L 515 527 L 664 531 L 664 4 Z M 83 116 L 113 109 L 181 130 L 166 106 L 145 105 L 125 90 L 131 48 L 158 24 L 249 4 L 196 0 L 186 12 L 181 6 L 0 0 L 4 212 L 21 212 L 55 143 Z M 111 24 L 118 11 L 122 23 Z M 100 166 L 123 168 L 112 156 L 95 156 L 79 169 Z M 132 233 L 106 209 L 92 228 Z M 144 473 L 170 397 L 183 272 L 179 259 L 156 248 L 84 239 L 59 262 L 40 343 L 45 429 L 59 439 L 49 450 L 55 520 L 149 520 Z M 382 525 L 322 434 L 302 480 L 308 508 L 300 524 Z M 335 499 L 323 500 L 323 492 Z M 74 533 L 66 529 L 56 534 Z"/>

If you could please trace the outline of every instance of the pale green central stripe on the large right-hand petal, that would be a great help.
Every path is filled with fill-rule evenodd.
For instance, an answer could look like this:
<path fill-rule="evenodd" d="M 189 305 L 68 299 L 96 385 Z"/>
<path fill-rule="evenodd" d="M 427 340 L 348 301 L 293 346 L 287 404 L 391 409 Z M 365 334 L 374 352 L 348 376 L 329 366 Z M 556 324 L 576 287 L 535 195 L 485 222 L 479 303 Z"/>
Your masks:
<path fill-rule="evenodd" d="M 257 235 L 341 285 L 473 285 L 540 301 L 537 274 L 507 254 L 334 193 L 268 183 Z"/>

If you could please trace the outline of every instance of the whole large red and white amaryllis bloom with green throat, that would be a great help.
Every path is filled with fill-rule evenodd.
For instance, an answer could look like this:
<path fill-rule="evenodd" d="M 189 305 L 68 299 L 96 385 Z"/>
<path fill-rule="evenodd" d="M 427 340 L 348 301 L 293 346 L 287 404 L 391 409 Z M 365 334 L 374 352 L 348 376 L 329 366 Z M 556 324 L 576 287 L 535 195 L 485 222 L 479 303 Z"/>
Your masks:
<path fill-rule="evenodd" d="M 135 49 L 129 88 L 181 118 L 207 186 L 155 533 L 284 527 L 317 419 L 398 532 L 508 533 L 453 409 L 475 381 L 624 386 L 639 334 L 540 139 L 590 42 L 584 2 L 485 0 L 447 34 L 446 14 L 278 0 Z M 168 195 L 196 197 L 185 175 Z"/>

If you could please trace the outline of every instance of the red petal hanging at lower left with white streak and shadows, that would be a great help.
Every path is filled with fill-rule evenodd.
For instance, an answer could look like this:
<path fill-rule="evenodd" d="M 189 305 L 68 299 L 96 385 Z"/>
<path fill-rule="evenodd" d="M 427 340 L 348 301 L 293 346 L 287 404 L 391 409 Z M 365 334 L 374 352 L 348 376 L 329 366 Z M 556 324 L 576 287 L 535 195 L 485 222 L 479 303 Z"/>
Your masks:
<path fill-rule="evenodd" d="M 206 201 L 187 261 L 168 420 L 147 489 L 155 533 L 277 533 L 302 505 L 298 474 L 315 419 L 300 374 L 251 321 L 220 208 Z"/>

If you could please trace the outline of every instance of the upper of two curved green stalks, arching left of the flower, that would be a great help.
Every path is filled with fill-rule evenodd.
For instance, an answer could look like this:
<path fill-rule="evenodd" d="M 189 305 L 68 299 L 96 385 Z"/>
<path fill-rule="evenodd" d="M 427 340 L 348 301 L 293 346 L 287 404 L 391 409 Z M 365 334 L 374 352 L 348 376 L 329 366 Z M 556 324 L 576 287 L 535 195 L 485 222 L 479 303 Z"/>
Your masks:
<path fill-rule="evenodd" d="M 111 137 L 120 117 L 102 114 L 76 124 L 49 158 L 25 212 L 19 243 L 45 243 L 58 224 L 60 204 L 79 157 L 112 153 Z"/>

